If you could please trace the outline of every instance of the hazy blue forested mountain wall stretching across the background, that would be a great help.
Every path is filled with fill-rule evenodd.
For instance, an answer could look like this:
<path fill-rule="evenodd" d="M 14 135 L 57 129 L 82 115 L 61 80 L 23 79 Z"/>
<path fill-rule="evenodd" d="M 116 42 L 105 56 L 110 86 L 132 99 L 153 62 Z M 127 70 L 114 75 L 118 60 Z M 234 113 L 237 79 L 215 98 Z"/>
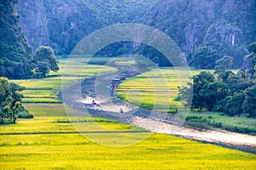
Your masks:
<path fill-rule="evenodd" d="M 248 54 L 245 47 L 256 39 L 253 0 L 20 0 L 16 8 L 33 50 L 38 45 L 50 45 L 56 54 L 69 54 L 96 29 L 137 22 L 166 32 L 195 68 L 213 69 L 215 61 L 224 55 L 232 56 L 232 67 L 239 68 Z M 115 45 L 102 53 L 117 55 L 119 48 L 161 58 L 155 57 L 160 54 L 150 48 L 137 52 L 129 44 Z M 158 64 L 168 65 L 162 61 Z"/>

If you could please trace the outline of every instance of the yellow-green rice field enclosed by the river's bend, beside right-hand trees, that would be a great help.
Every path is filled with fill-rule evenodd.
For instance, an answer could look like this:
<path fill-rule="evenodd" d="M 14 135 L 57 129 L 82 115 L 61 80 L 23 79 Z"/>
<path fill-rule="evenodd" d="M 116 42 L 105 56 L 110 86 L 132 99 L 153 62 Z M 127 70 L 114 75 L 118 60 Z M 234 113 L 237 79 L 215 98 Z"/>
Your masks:
<path fill-rule="evenodd" d="M 199 71 L 190 72 L 191 75 L 197 73 Z M 122 82 L 116 93 L 120 99 L 145 109 L 173 111 L 180 105 L 176 101 L 177 87 L 189 82 L 188 74 L 183 68 L 154 69 Z"/>

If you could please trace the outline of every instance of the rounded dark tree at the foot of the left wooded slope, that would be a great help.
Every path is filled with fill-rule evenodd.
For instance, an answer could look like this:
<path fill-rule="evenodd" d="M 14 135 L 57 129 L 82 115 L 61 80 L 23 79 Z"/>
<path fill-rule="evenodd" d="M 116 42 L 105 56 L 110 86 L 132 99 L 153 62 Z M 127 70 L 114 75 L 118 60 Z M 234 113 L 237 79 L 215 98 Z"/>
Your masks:
<path fill-rule="evenodd" d="M 35 68 L 33 69 L 36 77 L 46 77 L 49 71 L 58 71 L 59 66 L 55 53 L 52 48 L 40 46 L 36 50 L 36 54 L 33 56 Z"/>

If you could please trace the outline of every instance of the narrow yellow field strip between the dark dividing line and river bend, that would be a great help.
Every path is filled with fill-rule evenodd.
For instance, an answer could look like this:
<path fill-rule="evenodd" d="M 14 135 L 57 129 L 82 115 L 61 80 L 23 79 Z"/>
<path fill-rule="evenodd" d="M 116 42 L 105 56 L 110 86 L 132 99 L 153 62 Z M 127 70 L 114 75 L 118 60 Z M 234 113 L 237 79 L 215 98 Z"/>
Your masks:
<path fill-rule="evenodd" d="M 72 123 L 71 123 L 72 122 Z M 101 127 L 96 126 L 98 123 Z M 115 122 L 102 117 L 40 117 L 30 120 L 20 120 L 17 124 L 1 125 L 1 133 L 76 133 L 76 127 L 84 126 L 83 131 L 113 131 L 113 130 L 144 130 L 129 124 Z M 81 126 L 80 126 L 81 127 Z"/>

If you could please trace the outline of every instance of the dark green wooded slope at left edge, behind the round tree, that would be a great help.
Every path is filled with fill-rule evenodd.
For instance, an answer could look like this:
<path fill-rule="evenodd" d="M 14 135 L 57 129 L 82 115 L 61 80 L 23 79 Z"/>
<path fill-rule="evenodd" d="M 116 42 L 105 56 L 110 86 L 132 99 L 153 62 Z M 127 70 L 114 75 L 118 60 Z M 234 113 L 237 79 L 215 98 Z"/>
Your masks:
<path fill-rule="evenodd" d="M 26 78 L 30 75 L 32 50 L 22 34 L 15 0 L 0 1 L 0 77 Z"/>

